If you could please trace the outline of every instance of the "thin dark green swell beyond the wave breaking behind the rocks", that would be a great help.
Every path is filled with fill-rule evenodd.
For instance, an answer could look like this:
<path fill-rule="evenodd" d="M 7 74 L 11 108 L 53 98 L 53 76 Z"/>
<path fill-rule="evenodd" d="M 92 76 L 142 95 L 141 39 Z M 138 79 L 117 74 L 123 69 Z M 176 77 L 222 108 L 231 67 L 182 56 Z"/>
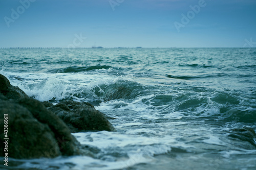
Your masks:
<path fill-rule="evenodd" d="M 87 67 L 78 67 L 78 66 L 71 66 L 66 68 L 58 68 L 50 70 L 50 72 L 84 72 L 84 71 L 91 71 L 97 69 L 109 69 L 112 68 L 109 65 L 94 65 L 94 66 L 87 66 Z"/>

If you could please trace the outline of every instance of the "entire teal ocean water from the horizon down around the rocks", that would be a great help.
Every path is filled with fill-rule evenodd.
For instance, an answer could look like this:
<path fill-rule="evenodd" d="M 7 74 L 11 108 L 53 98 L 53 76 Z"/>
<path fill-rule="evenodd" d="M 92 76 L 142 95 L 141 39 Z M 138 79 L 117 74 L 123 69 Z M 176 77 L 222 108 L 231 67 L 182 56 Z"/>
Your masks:
<path fill-rule="evenodd" d="M 86 101 L 117 132 L 73 135 L 87 156 L 7 169 L 256 169 L 256 48 L 9 48 L 0 74 L 39 101 Z"/>

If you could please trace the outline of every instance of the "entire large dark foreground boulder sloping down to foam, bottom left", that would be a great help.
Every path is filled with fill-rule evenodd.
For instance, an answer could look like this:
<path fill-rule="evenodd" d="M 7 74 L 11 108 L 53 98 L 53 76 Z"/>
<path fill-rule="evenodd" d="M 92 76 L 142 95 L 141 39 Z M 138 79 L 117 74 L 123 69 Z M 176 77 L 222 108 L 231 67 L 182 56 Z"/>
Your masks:
<path fill-rule="evenodd" d="M 6 100 L 0 95 L 0 116 L 8 114 L 8 157 L 54 158 L 88 154 L 55 114 L 34 99 Z M 4 121 L 0 122 L 4 127 Z M 4 128 L 0 129 L 0 152 L 4 156 Z M 80 150 L 81 149 L 81 150 Z"/>

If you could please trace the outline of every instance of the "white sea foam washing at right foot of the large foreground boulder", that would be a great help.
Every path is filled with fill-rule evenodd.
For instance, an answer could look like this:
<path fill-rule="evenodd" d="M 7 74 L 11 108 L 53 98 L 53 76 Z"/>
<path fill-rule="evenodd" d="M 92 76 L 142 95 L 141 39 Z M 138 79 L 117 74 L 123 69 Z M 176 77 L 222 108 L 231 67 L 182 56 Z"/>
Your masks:
<path fill-rule="evenodd" d="M 131 134 L 120 134 L 117 132 L 87 132 L 74 133 L 78 141 L 82 144 L 94 145 L 104 152 L 112 152 L 114 148 L 120 148 L 127 153 L 128 158 L 119 159 L 118 161 L 99 161 L 90 158 L 89 162 L 77 162 L 80 168 L 83 164 L 94 164 L 91 169 L 120 169 L 130 167 L 138 163 L 152 162 L 155 154 L 163 154 L 170 151 L 170 147 L 163 144 L 158 138 L 142 137 Z M 138 146 L 140 146 L 138 148 Z M 78 158 L 78 160 L 81 160 Z M 74 163 L 75 163 L 74 162 Z M 95 164 L 98 164 L 97 168 Z M 76 166 L 78 167 L 78 166 Z"/>

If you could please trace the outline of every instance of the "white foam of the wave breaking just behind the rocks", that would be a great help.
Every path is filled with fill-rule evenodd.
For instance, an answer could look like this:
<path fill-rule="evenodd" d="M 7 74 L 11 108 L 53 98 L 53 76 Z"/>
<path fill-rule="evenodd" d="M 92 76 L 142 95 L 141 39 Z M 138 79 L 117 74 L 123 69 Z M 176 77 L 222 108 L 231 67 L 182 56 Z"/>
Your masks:
<path fill-rule="evenodd" d="M 12 85 L 18 86 L 29 96 L 33 96 L 39 101 L 49 101 L 51 99 L 61 100 L 65 98 L 76 98 L 76 94 L 83 93 L 83 98 L 80 100 L 86 100 L 88 98 L 96 97 L 92 92 L 95 87 L 100 85 L 110 85 L 119 80 L 131 81 L 133 76 L 109 76 L 109 75 L 88 75 L 88 74 L 74 74 L 74 73 L 13 73 L 6 72 L 1 69 L 1 73 L 6 76 Z M 19 79 L 23 79 L 20 81 Z M 100 89 L 99 92 L 104 92 Z M 85 98 L 86 97 L 86 98 Z"/>

